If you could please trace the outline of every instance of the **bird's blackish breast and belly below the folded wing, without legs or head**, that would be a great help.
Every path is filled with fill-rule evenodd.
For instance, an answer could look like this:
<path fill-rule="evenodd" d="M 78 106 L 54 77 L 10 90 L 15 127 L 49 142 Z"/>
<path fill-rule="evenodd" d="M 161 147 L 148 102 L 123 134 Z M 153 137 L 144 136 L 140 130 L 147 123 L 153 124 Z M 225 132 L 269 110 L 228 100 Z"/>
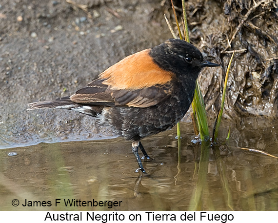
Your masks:
<path fill-rule="evenodd" d="M 192 85 L 192 84 L 191 84 Z M 114 126 L 126 140 L 140 139 L 173 127 L 187 112 L 194 95 L 194 85 L 174 83 L 173 91 L 163 101 L 146 108 L 106 107 L 98 116 L 100 124 Z"/>

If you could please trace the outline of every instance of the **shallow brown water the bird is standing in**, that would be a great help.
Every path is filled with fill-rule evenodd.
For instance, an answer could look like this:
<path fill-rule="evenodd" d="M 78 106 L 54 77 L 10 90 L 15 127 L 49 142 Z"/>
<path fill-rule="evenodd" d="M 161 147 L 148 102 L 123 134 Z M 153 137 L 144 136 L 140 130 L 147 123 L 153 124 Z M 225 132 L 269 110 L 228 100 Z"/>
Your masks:
<path fill-rule="evenodd" d="M 264 125 L 262 125 L 264 123 Z M 278 210 L 277 132 L 264 119 L 232 124 L 221 146 L 193 144 L 190 124 L 142 141 L 153 158 L 137 173 L 131 143 L 123 139 L 40 143 L 0 150 L 1 210 Z M 225 126 L 225 124 L 223 125 Z M 225 142 L 222 127 L 220 141 Z M 16 156 L 8 156 L 16 152 Z M 12 206 L 18 199 L 20 205 Z M 49 201 L 51 206 L 22 206 Z M 55 200 L 61 203 L 55 206 Z M 66 206 L 63 199 L 117 201 L 118 206 Z M 119 202 L 120 206 L 119 206 Z"/>

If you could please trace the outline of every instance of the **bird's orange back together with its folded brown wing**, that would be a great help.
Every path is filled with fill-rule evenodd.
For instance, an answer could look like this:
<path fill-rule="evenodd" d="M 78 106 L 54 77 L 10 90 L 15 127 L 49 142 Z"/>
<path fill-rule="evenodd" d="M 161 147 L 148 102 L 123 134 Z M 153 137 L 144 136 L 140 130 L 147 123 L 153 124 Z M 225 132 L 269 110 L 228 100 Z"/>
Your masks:
<path fill-rule="evenodd" d="M 172 91 L 173 73 L 161 69 L 149 55 L 150 49 L 126 57 L 99 78 L 70 97 L 77 103 L 107 106 L 149 107 Z"/>

